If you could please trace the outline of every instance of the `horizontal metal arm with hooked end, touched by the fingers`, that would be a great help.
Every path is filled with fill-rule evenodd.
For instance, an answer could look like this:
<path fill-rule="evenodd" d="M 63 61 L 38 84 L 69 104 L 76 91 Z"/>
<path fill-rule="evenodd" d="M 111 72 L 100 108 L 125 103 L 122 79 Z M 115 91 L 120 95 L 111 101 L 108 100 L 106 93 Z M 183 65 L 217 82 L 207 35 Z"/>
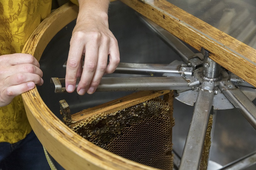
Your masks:
<path fill-rule="evenodd" d="M 79 81 L 78 78 L 76 88 Z M 199 81 L 196 82 L 199 85 Z M 191 89 L 196 82 L 183 77 L 102 78 L 96 92 Z M 65 83 L 65 78 L 51 78 L 51 83 L 55 84 L 55 93 L 66 92 L 66 88 L 61 85 Z"/>

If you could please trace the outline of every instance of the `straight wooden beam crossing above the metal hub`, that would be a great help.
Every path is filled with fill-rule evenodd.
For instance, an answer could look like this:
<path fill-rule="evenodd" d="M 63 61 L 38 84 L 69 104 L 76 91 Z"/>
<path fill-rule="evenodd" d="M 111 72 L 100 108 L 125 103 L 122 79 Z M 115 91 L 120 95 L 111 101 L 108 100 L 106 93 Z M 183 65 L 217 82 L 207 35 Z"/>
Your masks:
<path fill-rule="evenodd" d="M 256 87 L 256 50 L 165 0 L 120 0 Z"/>

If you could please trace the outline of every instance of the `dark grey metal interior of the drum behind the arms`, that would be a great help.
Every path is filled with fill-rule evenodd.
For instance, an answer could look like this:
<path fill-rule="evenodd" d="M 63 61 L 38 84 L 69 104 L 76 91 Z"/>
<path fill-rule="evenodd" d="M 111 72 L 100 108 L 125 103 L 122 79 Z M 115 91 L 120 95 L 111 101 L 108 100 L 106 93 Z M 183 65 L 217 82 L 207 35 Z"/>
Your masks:
<path fill-rule="evenodd" d="M 132 93 L 96 92 L 93 95 L 86 94 L 84 96 L 79 96 L 76 93 L 54 93 L 50 79 L 51 77 L 65 77 L 63 64 L 67 60 L 69 40 L 74 25 L 75 21 L 64 27 L 51 40 L 40 59 L 40 68 L 44 73 L 45 83 L 37 88 L 45 104 L 60 119 L 59 101 L 62 99 L 67 101 L 71 112 L 76 113 Z M 179 55 L 146 27 L 134 10 L 122 2 L 111 2 L 109 28 L 119 43 L 120 62 L 168 64 L 174 60 L 180 60 Z M 175 118 L 173 150 L 181 157 L 194 107 L 177 100 L 174 100 L 173 107 L 173 117 Z M 255 141 L 256 131 L 237 109 L 219 110 L 214 125 L 209 168 L 218 169 L 215 168 L 216 164 L 219 164 L 220 168 L 221 165 L 226 165 L 255 151 Z M 247 169 L 256 169 L 256 166 Z"/>

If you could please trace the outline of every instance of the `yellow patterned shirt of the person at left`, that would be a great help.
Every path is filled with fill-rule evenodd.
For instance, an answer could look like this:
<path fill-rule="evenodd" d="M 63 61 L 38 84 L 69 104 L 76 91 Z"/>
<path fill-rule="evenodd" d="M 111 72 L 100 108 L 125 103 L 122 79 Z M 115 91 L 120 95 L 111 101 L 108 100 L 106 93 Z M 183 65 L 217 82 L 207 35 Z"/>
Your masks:
<path fill-rule="evenodd" d="M 0 55 L 20 53 L 50 12 L 51 0 L 0 0 Z M 0 142 L 18 142 L 31 130 L 21 96 L 0 107 Z"/>

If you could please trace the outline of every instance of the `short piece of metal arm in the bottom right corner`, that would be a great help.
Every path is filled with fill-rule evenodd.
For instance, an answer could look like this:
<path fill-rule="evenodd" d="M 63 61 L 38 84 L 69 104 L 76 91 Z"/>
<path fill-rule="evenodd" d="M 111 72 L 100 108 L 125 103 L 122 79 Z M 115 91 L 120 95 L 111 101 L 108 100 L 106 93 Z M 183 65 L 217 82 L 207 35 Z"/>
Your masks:
<path fill-rule="evenodd" d="M 225 165 L 219 170 L 242 170 L 254 164 L 256 164 L 256 151 Z"/>

